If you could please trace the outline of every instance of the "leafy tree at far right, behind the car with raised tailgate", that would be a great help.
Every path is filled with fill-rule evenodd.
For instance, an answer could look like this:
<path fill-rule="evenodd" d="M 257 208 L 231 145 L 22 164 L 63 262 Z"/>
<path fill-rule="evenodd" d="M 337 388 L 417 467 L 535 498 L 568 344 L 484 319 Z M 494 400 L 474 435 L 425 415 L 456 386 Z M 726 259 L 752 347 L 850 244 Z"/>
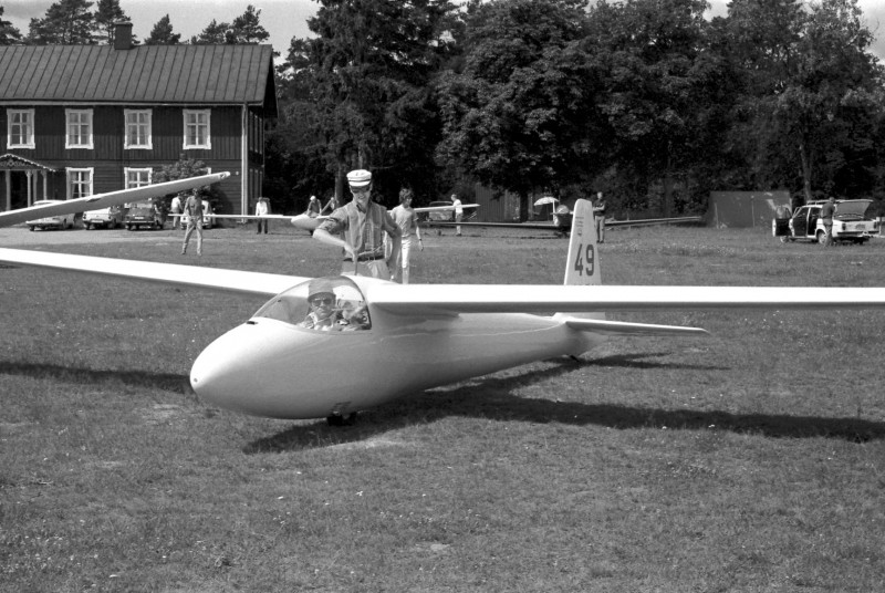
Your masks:
<path fill-rule="evenodd" d="M 805 199 L 875 183 L 883 69 L 862 18 L 856 0 L 736 0 L 729 11 L 757 162 Z"/>

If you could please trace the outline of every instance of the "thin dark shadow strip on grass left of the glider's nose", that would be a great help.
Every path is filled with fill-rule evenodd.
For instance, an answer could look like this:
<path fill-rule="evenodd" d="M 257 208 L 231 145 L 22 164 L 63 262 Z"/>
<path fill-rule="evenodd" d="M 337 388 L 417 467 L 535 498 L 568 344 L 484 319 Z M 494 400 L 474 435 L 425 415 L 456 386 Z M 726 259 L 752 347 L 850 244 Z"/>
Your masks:
<path fill-rule="evenodd" d="M 96 371 L 71 368 L 56 364 L 0 362 L 0 374 L 32 378 L 50 378 L 83 385 L 126 385 L 176 393 L 190 393 L 190 379 L 185 375 L 148 373 L 145 371 Z"/>

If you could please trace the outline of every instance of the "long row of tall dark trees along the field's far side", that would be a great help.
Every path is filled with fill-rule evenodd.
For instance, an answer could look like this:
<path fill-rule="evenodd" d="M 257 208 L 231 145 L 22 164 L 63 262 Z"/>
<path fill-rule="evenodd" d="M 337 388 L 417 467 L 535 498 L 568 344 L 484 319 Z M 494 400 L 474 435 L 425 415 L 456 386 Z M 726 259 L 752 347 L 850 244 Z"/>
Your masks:
<path fill-rule="evenodd" d="M 539 190 L 665 216 L 710 190 L 885 197 L 883 66 L 857 0 L 732 0 L 709 20 L 706 0 L 317 3 L 277 69 L 278 204 L 341 196 L 355 167 L 387 201 L 481 183 L 520 195 L 522 216 Z M 191 42 L 261 42 L 259 14 L 250 34 L 212 21 Z"/>

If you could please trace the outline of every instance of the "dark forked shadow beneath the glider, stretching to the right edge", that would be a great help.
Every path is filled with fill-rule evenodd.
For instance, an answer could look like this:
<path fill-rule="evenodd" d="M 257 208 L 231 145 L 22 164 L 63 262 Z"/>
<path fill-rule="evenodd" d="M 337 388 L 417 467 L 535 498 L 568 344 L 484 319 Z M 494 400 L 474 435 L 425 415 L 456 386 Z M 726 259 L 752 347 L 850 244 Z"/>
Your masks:
<path fill-rule="evenodd" d="M 576 367 L 615 366 L 626 368 L 704 368 L 709 365 L 649 363 L 642 355 L 617 355 L 593 361 L 555 361 L 556 365 L 540 372 L 497 378 L 483 377 L 454 389 L 430 389 L 406 396 L 360 414 L 350 426 L 331 427 L 325 420 L 294 426 L 277 435 L 248 444 L 243 451 L 273 452 L 331 447 L 369 441 L 391 430 L 429 424 L 451 416 L 487 418 L 500 422 L 535 424 L 558 423 L 574 426 L 604 426 L 615 429 L 657 428 L 673 430 L 729 430 L 772 438 L 834 438 L 866 443 L 885 438 L 885 423 L 856 418 L 825 418 L 770 414 L 730 414 L 691 409 L 659 409 L 623 404 L 583 404 L 555 399 L 525 398 L 513 395 L 519 387 L 561 375 Z"/>

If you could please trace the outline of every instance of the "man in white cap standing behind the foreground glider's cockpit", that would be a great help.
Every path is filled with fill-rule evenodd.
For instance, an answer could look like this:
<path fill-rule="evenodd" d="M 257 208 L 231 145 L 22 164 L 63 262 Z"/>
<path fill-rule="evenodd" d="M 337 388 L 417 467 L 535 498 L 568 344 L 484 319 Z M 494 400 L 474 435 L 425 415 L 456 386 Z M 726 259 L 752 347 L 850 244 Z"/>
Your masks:
<path fill-rule="evenodd" d="M 387 208 L 372 201 L 372 174 L 365 169 L 347 174 L 353 200 L 335 209 L 316 227 L 313 238 L 320 242 L 341 247 L 345 257 L 342 274 L 371 275 L 391 279 L 384 259 L 383 233 L 394 241 L 394 252 L 399 251 L 402 231 L 391 218 Z M 335 235 L 343 232 L 344 239 Z"/>

